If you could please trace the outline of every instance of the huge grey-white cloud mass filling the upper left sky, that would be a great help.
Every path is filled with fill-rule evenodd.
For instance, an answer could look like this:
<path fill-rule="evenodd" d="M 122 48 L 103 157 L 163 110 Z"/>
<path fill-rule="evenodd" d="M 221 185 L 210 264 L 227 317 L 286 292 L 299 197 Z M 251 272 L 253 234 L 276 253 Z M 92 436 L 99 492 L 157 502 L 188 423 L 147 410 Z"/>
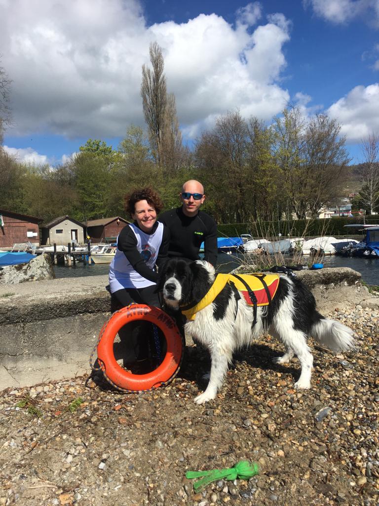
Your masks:
<path fill-rule="evenodd" d="M 239 12 L 235 27 L 215 14 L 148 27 L 137 0 L 0 0 L 0 8 L 12 135 L 106 138 L 143 124 L 141 66 L 151 41 L 163 49 L 168 91 L 187 132 L 236 107 L 270 119 L 289 100 L 280 86 L 289 23 L 275 14 L 252 31 L 258 3 Z"/>

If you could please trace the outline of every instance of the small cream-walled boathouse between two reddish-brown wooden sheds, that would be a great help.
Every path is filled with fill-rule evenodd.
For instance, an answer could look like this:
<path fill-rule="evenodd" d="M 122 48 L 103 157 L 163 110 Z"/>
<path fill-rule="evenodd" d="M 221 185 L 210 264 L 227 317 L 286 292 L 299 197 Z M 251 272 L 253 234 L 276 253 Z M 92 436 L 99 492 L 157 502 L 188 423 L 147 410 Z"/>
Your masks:
<path fill-rule="evenodd" d="M 55 218 L 42 227 L 42 244 L 67 246 L 68 243 L 84 243 L 84 223 L 69 216 Z"/>

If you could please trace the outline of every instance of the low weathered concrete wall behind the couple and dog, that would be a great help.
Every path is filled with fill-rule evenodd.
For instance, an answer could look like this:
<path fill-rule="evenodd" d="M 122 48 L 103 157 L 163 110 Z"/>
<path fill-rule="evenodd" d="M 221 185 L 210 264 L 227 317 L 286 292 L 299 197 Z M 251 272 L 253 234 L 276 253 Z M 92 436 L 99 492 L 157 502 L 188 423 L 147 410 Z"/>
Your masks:
<path fill-rule="evenodd" d="M 67 267 L 69 269 L 69 267 Z M 300 271 L 318 309 L 378 303 L 352 269 Z M 0 390 L 89 371 L 89 356 L 110 317 L 108 276 L 0 284 Z"/>

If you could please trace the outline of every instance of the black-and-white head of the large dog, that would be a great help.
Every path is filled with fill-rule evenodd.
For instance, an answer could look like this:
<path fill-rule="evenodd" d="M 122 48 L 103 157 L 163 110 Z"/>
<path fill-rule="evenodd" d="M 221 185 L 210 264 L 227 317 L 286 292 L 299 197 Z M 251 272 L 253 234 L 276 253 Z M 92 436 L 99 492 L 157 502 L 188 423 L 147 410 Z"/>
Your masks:
<path fill-rule="evenodd" d="M 201 260 L 188 263 L 170 259 L 159 273 L 158 289 L 163 292 L 166 304 L 178 308 L 201 300 L 215 278 L 211 264 Z"/>

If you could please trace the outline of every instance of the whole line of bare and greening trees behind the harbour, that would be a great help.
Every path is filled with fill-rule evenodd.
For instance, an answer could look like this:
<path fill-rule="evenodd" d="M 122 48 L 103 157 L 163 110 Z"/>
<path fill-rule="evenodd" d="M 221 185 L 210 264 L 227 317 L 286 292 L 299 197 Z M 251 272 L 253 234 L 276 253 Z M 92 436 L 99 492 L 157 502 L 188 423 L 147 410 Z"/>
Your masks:
<path fill-rule="evenodd" d="M 0 67 L 5 90 L 0 102 L 0 207 L 49 221 L 69 215 L 79 221 L 123 216 L 123 200 L 150 185 L 165 208 L 179 205 L 181 184 L 198 179 L 204 208 L 218 223 L 316 217 L 343 196 L 349 156 L 341 125 L 325 114 L 307 121 L 288 105 L 269 125 L 239 110 L 219 116 L 191 148 L 183 146 L 175 96 L 167 92 L 161 48 L 150 46 L 142 68 L 141 98 L 146 129 L 129 125 L 117 148 L 88 139 L 65 163 L 25 164 L 2 147 L 10 122 L 10 79 Z M 379 207 L 379 138 L 362 141 L 361 190 L 356 205 Z"/>

